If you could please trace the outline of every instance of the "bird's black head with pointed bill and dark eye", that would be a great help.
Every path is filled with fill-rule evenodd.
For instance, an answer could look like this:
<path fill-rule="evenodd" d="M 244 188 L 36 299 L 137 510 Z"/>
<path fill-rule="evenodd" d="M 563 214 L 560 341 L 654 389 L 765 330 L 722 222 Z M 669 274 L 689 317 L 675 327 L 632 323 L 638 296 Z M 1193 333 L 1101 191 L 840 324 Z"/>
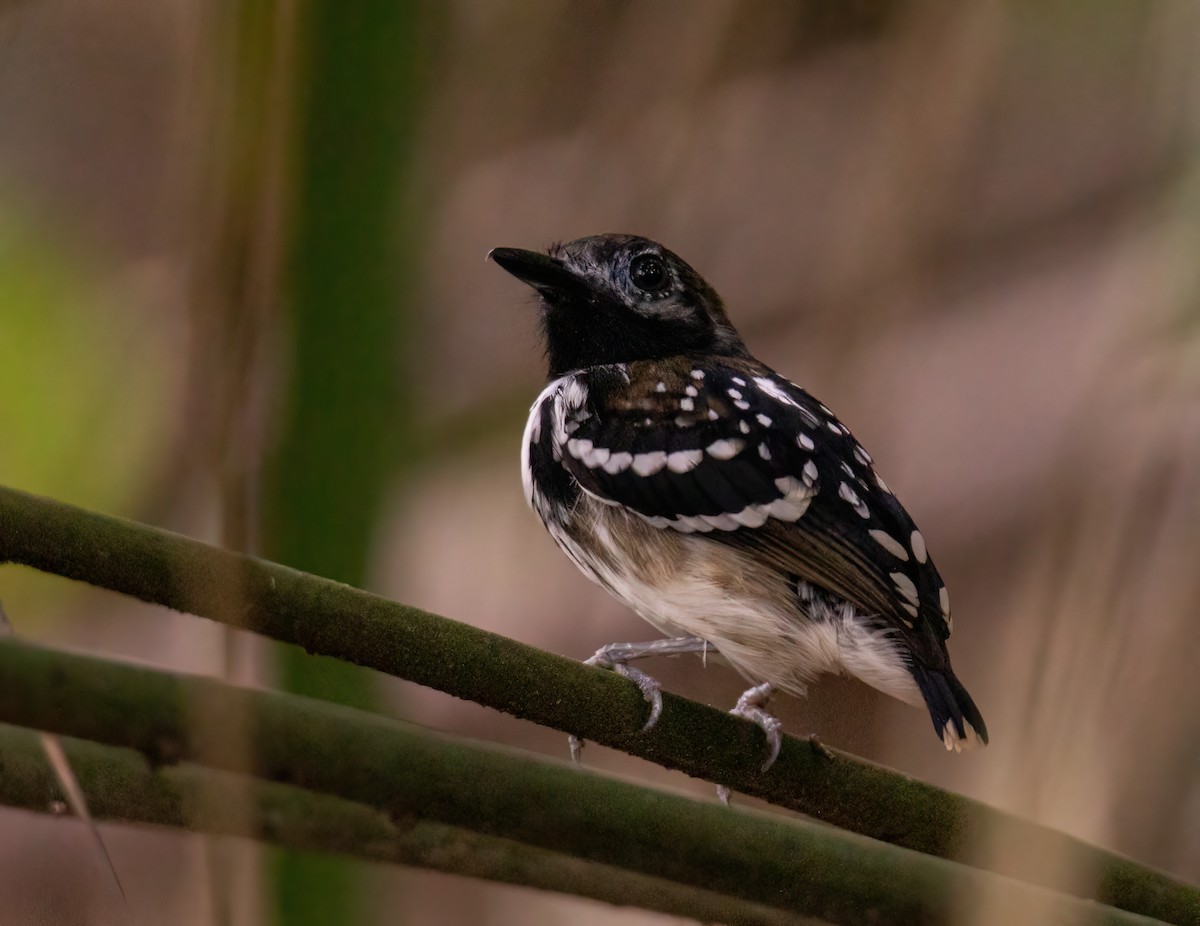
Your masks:
<path fill-rule="evenodd" d="M 593 235 L 548 255 L 498 247 L 491 258 L 541 296 L 552 377 L 679 354 L 745 354 L 712 287 L 648 239 Z"/>

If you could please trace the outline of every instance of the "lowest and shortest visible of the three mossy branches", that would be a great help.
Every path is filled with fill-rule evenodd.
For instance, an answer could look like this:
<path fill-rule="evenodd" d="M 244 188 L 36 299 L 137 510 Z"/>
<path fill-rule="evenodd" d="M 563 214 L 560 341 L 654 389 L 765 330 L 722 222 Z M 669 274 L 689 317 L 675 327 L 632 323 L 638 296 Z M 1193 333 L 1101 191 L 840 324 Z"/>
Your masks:
<path fill-rule="evenodd" d="M 64 739 L 64 751 L 94 814 L 270 842 L 473 878 L 553 890 L 606 903 L 738 926 L 808 926 L 811 919 L 689 888 L 611 865 L 427 819 L 394 820 L 362 804 L 214 771 L 151 765 L 142 754 Z M 0 804 L 56 813 L 64 795 L 36 733 L 0 724 Z"/>

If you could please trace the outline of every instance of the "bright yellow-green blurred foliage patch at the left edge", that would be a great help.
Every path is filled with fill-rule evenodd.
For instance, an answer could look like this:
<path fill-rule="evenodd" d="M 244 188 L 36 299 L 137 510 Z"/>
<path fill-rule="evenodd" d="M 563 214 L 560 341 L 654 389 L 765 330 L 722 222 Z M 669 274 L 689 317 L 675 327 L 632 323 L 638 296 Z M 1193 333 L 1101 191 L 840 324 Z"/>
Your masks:
<path fill-rule="evenodd" d="M 172 443 L 172 357 L 146 324 L 109 311 L 85 242 L 64 240 L 0 190 L 0 485 L 127 510 Z M 37 585 L 37 607 L 31 587 Z M 6 575 L 19 629 L 53 619 L 73 585 Z"/>

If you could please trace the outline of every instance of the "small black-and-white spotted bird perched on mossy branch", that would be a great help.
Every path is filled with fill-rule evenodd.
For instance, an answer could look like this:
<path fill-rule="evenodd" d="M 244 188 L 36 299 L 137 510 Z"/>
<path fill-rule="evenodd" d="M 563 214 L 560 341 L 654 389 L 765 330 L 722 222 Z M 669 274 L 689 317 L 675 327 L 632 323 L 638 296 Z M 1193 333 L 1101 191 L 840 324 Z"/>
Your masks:
<path fill-rule="evenodd" d="M 595 235 L 491 257 L 533 287 L 550 383 L 521 447 L 526 498 L 575 565 L 671 639 L 605 647 L 628 665 L 715 649 L 763 708 L 821 673 L 929 709 L 947 748 L 988 741 L 950 668 L 950 605 L 925 541 L 833 413 L 755 360 L 721 299 L 661 245 Z"/>

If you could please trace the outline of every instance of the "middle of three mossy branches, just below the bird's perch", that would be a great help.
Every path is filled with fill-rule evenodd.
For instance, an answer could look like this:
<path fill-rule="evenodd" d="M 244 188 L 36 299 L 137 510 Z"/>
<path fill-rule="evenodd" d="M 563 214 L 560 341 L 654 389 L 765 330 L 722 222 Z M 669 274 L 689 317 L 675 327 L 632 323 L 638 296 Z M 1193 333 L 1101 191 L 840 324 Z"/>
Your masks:
<path fill-rule="evenodd" d="M 197 733 L 242 718 L 252 750 Z M 724 807 L 326 702 L 0 642 L 0 722 L 342 798 L 835 924 L 1147 919 L 808 820 Z M 236 805 L 234 805 L 236 806 Z"/>

